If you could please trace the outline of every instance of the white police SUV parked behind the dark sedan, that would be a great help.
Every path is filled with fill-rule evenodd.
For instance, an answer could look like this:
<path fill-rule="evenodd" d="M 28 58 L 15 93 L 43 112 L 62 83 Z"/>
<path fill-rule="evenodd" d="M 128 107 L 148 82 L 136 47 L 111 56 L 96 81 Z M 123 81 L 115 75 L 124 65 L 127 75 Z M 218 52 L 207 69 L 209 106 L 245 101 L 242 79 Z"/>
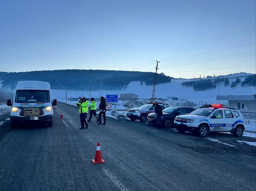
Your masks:
<path fill-rule="evenodd" d="M 145 123 L 147 121 L 148 114 L 155 112 L 155 108 L 153 107 L 154 103 L 158 103 L 158 102 L 147 103 L 146 105 L 141 106 L 139 108 L 129 109 L 127 112 L 127 117 L 132 121 L 139 119 L 141 122 Z M 163 110 L 169 107 L 168 104 L 164 104 L 164 103 L 158 103 L 158 104 L 163 108 Z"/>

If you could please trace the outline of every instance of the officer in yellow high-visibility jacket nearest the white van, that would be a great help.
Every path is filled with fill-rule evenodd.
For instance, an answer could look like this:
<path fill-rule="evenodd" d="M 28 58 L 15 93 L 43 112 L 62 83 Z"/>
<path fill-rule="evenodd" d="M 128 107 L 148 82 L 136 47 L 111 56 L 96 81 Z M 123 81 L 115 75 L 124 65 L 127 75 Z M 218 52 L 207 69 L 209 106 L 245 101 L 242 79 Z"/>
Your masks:
<path fill-rule="evenodd" d="M 88 114 L 89 101 L 88 99 L 85 99 L 85 97 L 83 96 L 79 96 L 79 98 L 80 98 L 79 103 L 77 103 L 77 107 L 79 108 L 79 113 L 80 113 L 80 122 L 81 122 L 81 128 L 79 129 L 87 129 L 88 122 L 86 118 Z"/>

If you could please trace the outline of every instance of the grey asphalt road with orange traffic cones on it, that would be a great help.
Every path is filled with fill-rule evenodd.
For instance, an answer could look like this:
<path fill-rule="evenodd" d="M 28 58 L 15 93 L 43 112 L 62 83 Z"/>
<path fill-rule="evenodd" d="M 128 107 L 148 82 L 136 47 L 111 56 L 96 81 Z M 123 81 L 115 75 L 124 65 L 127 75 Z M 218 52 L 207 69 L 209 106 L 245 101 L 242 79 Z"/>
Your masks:
<path fill-rule="evenodd" d="M 0 116 L 1 191 L 256 189 L 255 146 L 236 142 L 255 138 L 218 133 L 209 137 L 222 143 L 212 142 L 123 116 L 79 130 L 77 108 L 63 103 L 53 127 L 10 129 L 8 117 Z M 97 142 L 106 163 L 93 165 Z"/>

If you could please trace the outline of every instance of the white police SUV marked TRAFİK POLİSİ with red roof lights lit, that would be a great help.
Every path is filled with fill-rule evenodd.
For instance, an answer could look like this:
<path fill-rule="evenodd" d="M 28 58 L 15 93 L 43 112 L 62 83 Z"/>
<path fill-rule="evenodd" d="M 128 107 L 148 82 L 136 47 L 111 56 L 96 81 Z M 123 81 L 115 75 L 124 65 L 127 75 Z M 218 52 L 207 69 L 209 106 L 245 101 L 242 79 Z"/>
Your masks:
<path fill-rule="evenodd" d="M 200 137 L 206 137 L 210 131 L 231 132 L 242 137 L 245 129 L 240 111 L 222 105 L 204 105 L 190 114 L 178 115 L 174 125 L 180 133 L 196 132 Z"/>

